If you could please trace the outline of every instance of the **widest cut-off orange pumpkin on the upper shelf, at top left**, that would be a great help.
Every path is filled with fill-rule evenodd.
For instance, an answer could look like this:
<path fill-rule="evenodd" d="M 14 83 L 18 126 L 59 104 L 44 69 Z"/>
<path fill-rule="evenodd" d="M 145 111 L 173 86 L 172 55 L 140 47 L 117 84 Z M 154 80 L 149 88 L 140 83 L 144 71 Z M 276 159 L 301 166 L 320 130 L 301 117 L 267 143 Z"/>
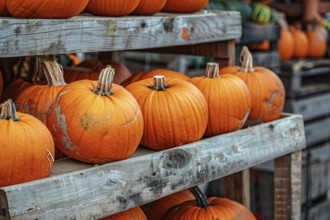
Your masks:
<path fill-rule="evenodd" d="M 16 18 L 69 18 L 80 14 L 88 0 L 6 0 Z"/>

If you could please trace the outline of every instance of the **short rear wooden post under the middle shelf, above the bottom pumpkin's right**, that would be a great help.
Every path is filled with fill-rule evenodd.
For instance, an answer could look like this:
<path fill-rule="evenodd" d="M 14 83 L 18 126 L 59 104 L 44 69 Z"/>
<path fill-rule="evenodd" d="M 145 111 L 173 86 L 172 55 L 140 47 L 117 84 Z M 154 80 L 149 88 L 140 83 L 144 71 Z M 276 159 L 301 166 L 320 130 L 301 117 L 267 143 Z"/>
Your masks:
<path fill-rule="evenodd" d="M 224 197 L 250 208 L 250 170 L 246 169 L 224 178 Z"/>

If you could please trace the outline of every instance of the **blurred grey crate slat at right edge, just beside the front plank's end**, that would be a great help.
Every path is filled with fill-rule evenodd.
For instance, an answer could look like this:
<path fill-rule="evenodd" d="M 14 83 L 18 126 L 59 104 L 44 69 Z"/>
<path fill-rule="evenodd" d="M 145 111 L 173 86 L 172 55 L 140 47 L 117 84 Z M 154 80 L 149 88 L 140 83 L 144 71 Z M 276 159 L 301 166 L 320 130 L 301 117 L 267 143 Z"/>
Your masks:
<path fill-rule="evenodd" d="M 305 132 L 308 147 L 330 140 L 330 118 L 305 123 Z"/>

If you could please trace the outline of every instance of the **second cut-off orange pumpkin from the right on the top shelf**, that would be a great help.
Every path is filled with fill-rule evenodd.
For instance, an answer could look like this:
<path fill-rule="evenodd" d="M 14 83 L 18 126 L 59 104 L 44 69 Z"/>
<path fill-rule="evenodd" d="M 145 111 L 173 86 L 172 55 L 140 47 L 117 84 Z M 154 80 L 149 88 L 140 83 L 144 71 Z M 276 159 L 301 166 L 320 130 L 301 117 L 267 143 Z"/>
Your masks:
<path fill-rule="evenodd" d="M 134 10 L 133 14 L 138 15 L 152 15 L 160 12 L 167 0 L 141 0 L 138 7 Z"/>

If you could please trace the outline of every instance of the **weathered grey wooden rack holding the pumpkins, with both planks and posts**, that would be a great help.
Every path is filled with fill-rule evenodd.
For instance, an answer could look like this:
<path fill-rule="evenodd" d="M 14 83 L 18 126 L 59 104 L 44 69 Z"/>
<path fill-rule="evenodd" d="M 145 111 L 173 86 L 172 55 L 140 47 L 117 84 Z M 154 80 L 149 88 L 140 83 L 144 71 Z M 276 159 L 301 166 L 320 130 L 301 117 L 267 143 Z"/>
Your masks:
<path fill-rule="evenodd" d="M 214 57 L 234 64 L 237 12 L 72 19 L 0 19 L 0 57 L 150 50 Z M 245 169 L 275 162 L 275 219 L 300 219 L 303 119 L 279 120 L 92 167 L 55 162 L 52 177 L 0 188 L 0 219 L 98 219 L 194 185 L 225 178 L 226 196 L 248 205 Z"/>

